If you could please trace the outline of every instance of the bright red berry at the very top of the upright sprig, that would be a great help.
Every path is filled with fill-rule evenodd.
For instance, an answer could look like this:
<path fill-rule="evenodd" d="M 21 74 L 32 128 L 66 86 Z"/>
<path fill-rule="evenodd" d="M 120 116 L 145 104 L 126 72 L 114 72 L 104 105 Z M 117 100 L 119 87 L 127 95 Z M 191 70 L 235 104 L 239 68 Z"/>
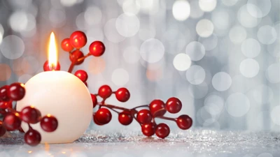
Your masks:
<path fill-rule="evenodd" d="M 87 36 L 83 31 L 74 31 L 70 36 L 70 43 L 76 49 L 80 49 L 87 44 Z"/>

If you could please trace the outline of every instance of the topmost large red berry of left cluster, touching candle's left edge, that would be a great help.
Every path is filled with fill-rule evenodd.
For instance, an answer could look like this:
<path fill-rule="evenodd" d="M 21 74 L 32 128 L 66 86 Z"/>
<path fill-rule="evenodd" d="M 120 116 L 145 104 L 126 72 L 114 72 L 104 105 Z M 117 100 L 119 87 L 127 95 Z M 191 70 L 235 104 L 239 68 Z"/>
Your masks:
<path fill-rule="evenodd" d="M 25 96 L 25 84 L 18 82 L 10 84 L 7 94 L 12 100 L 21 100 Z"/>

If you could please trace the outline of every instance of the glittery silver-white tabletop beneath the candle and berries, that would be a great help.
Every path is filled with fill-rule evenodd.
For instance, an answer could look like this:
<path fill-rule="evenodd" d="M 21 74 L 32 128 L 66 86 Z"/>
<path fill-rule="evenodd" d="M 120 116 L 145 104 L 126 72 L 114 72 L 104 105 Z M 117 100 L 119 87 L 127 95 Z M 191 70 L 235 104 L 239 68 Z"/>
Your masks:
<path fill-rule="evenodd" d="M 92 131 L 71 144 L 24 144 L 23 134 L 0 138 L 0 156 L 280 156 L 279 133 L 188 130 L 165 140 L 139 132 Z"/>

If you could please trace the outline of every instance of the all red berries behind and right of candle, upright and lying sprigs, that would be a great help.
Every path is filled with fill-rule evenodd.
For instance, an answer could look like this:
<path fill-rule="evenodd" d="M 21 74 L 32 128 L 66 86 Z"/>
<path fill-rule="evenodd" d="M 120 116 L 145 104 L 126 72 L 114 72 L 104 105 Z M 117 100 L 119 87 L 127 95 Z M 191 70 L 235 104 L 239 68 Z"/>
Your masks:
<path fill-rule="evenodd" d="M 82 31 L 74 31 L 70 38 L 62 40 L 62 49 L 69 52 L 69 59 L 71 61 L 71 66 L 68 70 L 69 73 L 72 72 L 73 66 L 83 63 L 86 57 L 89 57 L 90 55 L 100 57 L 104 54 L 104 44 L 101 41 L 94 41 L 90 44 L 89 52 L 84 55 L 83 52 L 80 51 L 80 48 L 84 47 L 86 43 L 87 36 L 85 36 L 85 33 Z M 57 65 L 59 65 L 59 63 Z M 60 66 L 57 66 L 55 70 L 59 70 L 59 68 Z M 48 67 L 48 61 L 45 62 L 44 70 L 52 70 Z M 77 70 L 74 75 L 87 84 L 87 73 L 85 70 Z M 132 109 L 127 109 L 125 107 L 106 104 L 105 100 L 112 94 L 115 94 L 117 100 L 123 103 L 130 99 L 130 91 L 126 88 L 120 88 L 117 91 L 112 91 L 111 87 L 108 85 L 100 87 L 98 94 L 91 94 L 93 107 L 99 107 L 97 112 L 94 112 L 93 114 L 95 124 L 100 126 L 108 124 L 112 119 L 110 110 L 118 113 L 118 121 L 120 124 L 125 126 L 131 124 L 133 119 L 135 119 L 141 125 L 142 133 L 146 136 L 155 134 L 160 138 L 165 138 L 169 135 L 169 126 L 164 123 L 156 124 L 155 118 L 175 121 L 179 128 L 183 130 L 190 128 L 193 124 L 193 120 L 186 114 L 177 118 L 164 117 L 166 112 L 176 114 L 181 110 L 182 103 L 178 98 L 169 98 L 166 103 L 162 100 L 153 100 L 149 105 L 141 105 Z M 97 102 L 97 96 L 102 98 L 101 102 Z M 146 107 L 147 109 L 138 111 L 137 109 L 141 107 Z M 118 110 L 120 110 L 120 112 Z"/>

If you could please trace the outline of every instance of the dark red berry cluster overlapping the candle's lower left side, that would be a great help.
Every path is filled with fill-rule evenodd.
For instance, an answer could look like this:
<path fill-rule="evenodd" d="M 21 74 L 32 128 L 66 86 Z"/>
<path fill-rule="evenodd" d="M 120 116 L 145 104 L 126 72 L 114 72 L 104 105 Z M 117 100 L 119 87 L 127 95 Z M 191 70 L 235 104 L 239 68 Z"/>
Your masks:
<path fill-rule="evenodd" d="M 0 88 L 0 114 L 3 115 L 3 121 L 0 121 L 0 137 L 6 131 L 20 130 L 22 121 L 28 124 L 29 130 L 25 133 L 25 142 L 31 146 L 35 146 L 41 142 L 41 135 L 34 130 L 30 124 L 40 122 L 41 128 L 46 132 L 52 132 L 57 129 L 57 119 L 50 114 L 41 116 L 41 112 L 33 106 L 27 106 L 17 112 L 13 109 L 13 101 L 21 100 L 25 96 L 25 85 L 21 83 L 13 83 Z"/>

